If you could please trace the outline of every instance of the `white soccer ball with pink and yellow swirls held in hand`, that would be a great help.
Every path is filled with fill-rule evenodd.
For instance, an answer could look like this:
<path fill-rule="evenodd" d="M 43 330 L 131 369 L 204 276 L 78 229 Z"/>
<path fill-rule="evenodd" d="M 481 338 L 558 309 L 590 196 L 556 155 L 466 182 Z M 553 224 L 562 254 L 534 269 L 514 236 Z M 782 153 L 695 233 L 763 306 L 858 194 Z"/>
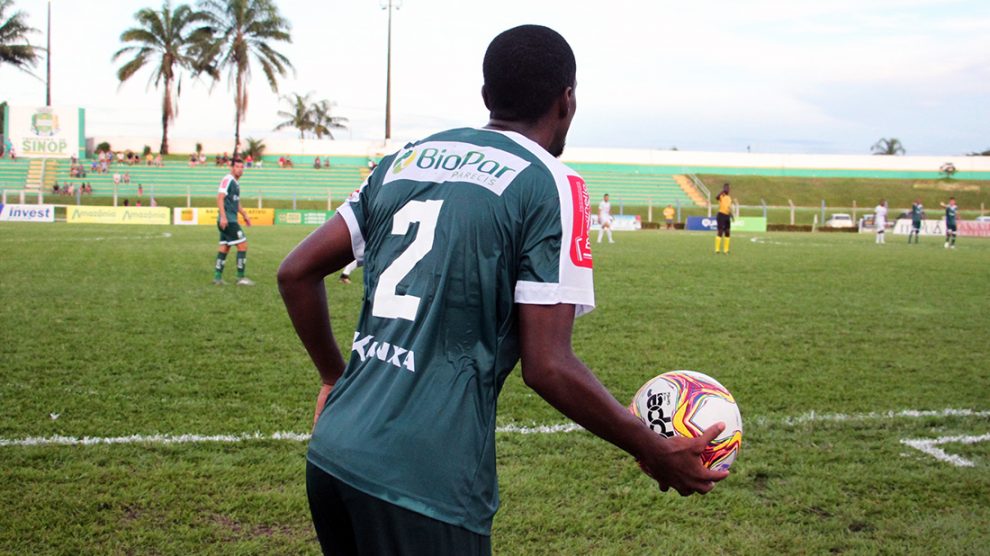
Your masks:
<path fill-rule="evenodd" d="M 668 438 L 701 436 L 715 423 L 725 423 L 722 434 L 701 454 L 705 466 L 716 471 L 728 469 L 742 447 L 742 416 L 735 398 L 704 373 L 671 371 L 650 379 L 633 396 L 629 411 Z"/>

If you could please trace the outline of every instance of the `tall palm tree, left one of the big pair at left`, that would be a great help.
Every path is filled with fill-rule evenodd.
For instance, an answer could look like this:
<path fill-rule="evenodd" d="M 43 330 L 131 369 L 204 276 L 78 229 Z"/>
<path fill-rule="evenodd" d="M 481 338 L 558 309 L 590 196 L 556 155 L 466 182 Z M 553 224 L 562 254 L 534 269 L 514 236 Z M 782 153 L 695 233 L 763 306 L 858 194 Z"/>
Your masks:
<path fill-rule="evenodd" d="M 197 62 L 204 41 L 208 34 L 203 29 L 194 26 L 206 20 L 206 16 L 182 4 L 172 9 L 172 0 L 165 0 L 161 10 L 143 8 L 134 14 L 138 26 L 132 27 L 120 35 L 125 46 L 113 55 L 113 60 L 121 56 L 134 54 L 129 62 L 117 70 L 117 79 L 121 86 L 138 70 L 147 64 L 153 64 L 154 70 L 149 85 L 159 83 L 165 89 L 162 95 L 162 146 L 159 152 L 168 154 L 168 126 L 179 114 L 179 95 L 182 94 L 182 79 L 177 75 L 178 70 L 186 69 L 194 75 L 199 72 Z M 177 83 L 175 97 L 172 96 L 172 84 Z"/>

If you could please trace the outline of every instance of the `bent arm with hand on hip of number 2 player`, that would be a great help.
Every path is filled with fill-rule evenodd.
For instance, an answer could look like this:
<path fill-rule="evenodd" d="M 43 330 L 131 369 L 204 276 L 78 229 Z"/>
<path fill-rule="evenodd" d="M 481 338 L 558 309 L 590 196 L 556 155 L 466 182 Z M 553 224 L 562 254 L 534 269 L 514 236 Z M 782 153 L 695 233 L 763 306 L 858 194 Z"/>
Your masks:
<path fill-rule="evenodd" d="M 314 424 L 330 390 L 344 372 L 344 357 L 330 327 L 323 279 L 352 260 L 350 232 L 344 219 L 336 215 L 296 246 L 278 269 L 282 301 L 323 381 L 317 396 Z"/>

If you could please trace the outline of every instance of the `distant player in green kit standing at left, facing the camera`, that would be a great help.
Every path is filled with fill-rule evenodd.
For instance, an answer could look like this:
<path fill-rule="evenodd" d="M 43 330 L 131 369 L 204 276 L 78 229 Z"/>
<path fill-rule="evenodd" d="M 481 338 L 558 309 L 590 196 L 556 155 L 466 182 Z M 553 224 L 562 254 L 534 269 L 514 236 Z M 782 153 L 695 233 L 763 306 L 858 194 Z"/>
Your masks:
<path fill-rule="evenodd" d="M 218 286 L 226 284 L 223 280 L 223 267 L 227 264 L 227 253 L 231 246 L 237 246 L 237 285 L 253 286 L 254 281 L 244 275 L 247 266 L 247 237 L 237 223 L 237 215 L 244 217 L 244 223 L 251 225 L 251 218 L 241 207 L 241 186 L 237 180 L 244 175 L 244 161 L 234 157 L 230 159 L 230 173 L 220 180 L 220 190 L 217 193 L 217 228 L 220 230 L 220 248 L 217 250 L 217 262 L 213 274 L 213 283 Z"/>

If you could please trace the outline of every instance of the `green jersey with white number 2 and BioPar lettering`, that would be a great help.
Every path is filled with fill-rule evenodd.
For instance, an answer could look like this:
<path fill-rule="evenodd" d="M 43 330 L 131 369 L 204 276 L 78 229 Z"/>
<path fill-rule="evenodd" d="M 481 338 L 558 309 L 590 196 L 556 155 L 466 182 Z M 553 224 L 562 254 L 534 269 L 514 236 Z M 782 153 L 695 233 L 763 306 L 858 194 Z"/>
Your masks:
<path fill-rule="evenodd" d="M 368 494 L 490 534 L 516 304 L 594 307 L 584 181 L 522 135 L 456 129 L 386 157 L 338 211 L 365 294 L 308 458 Z"/>

